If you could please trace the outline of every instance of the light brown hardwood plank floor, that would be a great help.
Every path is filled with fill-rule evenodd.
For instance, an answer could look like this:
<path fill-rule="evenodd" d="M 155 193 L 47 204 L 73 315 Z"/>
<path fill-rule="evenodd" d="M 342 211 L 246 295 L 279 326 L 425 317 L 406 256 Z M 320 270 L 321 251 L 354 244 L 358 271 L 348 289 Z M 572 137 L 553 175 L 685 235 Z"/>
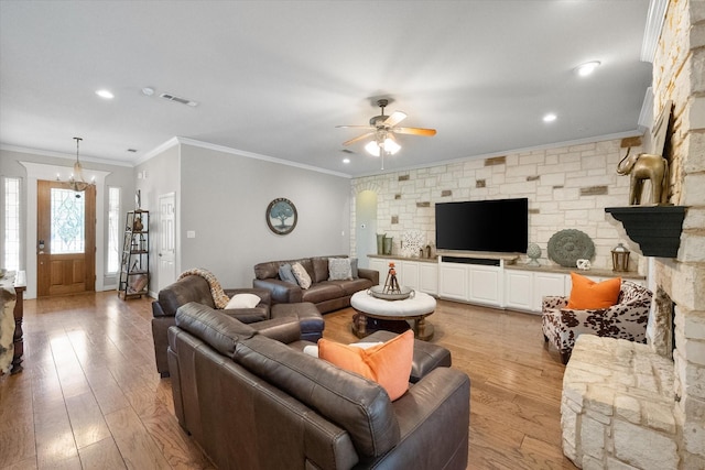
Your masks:
<path fill-rule="evenodd" d="M 25 300 L 24 371 L 0 378 L 2 469 L 202 469 L 154 365 L 151 300 Z M 352 342 L 351 309 L 325 316 Z M 433 342 L 470 385 L 468 469 L 574 469 L 561 451 L 564 367 L 539 316 L 438 302 Z"/>

